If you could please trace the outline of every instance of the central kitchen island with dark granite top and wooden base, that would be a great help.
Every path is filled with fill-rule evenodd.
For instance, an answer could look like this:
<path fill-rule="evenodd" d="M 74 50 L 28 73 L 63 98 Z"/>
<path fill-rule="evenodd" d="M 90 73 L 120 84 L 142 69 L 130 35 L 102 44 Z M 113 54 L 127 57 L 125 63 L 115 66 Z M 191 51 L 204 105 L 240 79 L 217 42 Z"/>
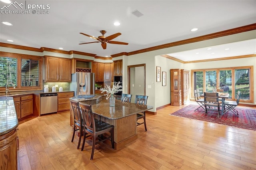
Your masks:
<path fill-rule="evenodd" d="M 88 99 L 79 99 L 78 101 L 70 98 L 70 100 L 92 105 L 92 112 L 97 119 L 114 125 L 115 149 L 122 148 L 124 145 L 136 140 L 138 138 L 136 114 L 153 109 L 153 107 L 135 103 L 123 103 L 120 100 L 116 100 L 116 105 L 110 107 L 109 100 L 106 100 L 105 96 L 101 98 L 102 100 L 95 104 L 91 104 L 91 100 Z"/>

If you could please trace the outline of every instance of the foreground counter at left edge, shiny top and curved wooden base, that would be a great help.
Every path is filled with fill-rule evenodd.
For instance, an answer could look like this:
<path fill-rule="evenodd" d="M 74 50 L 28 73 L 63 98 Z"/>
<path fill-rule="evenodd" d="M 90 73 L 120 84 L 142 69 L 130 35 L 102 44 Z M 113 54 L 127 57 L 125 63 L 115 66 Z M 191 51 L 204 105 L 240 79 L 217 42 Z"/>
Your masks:
<path fill-rule="evenodd" d="M 0 167 L 17 169 L 18 118 L 12 97 L 0 97 Z"/>

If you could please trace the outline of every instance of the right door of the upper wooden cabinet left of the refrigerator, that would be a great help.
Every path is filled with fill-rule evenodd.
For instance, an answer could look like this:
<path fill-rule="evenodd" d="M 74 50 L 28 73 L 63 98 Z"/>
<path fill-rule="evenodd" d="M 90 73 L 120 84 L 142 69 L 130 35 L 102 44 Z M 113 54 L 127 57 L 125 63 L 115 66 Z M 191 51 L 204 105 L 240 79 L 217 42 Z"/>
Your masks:
<path fill-rule="evenodd" d="M 60 81 L 71 81 L 71 60 L 60 59 Z"/>

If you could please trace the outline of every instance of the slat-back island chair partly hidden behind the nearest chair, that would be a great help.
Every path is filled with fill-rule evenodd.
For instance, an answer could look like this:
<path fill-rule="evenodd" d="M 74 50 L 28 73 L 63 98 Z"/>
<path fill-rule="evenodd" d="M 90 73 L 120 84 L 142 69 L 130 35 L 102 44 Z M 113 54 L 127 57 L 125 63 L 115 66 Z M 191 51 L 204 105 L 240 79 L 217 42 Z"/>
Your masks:
<path fill-rule="evenodd" d="M 70 100 L 70 104 L 71 104 L 71 109 L 72 109 L 72 112 L 74 115 L 73 136 L 72 136 L 71 142 L 73 142 L 73 140 L 74 140 L 75 132 L 79 131 L 79 139 L 78 139 L 78 144 L 77 144 L 77 149 L 79 149 L 84 125 L 83 125 L 82 115 L 80 112 L 80 107 L 79 107 L 78 102 L 74 102 L 74 101 Z"/>

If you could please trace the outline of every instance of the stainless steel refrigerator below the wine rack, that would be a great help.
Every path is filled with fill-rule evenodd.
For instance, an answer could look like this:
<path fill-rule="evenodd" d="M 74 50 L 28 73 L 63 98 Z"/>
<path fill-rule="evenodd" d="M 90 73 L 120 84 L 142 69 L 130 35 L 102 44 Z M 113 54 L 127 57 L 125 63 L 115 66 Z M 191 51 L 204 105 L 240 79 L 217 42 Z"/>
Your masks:
<path fill-rule="evenodd" d="M 95 93 L 95 75 L 94 73 L 76 72 L 72 74 L 70 90 L 78 95 L 93 95 Z"/>

